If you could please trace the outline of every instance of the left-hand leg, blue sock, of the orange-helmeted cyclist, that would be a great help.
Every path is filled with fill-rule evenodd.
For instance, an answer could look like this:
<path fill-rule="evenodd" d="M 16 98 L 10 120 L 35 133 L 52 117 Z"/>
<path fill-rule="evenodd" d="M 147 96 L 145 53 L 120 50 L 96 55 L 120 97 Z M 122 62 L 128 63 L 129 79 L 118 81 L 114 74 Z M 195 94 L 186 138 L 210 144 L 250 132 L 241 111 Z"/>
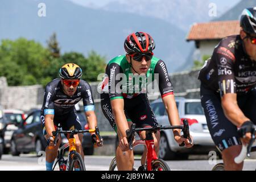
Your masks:
<path fill-rule="evenodd" d="M 46 147 L 46 168 L 47 171 L 52 170 L 52 166 L 54 163 L 54 160 L 57 157 L 57 151 L 59 149 L 60 143 L 61 143 L 61 137 L 59 137 L 59 140 L 57 141 L 56 146 L 51 146 L 51 148 L 49 148 L 49 137 L 46 133 L 46 127 L 44 126 L 44 115 L 40 116 L 42 125 L 43 125 L 43 135 L 47 140 L 47 147 Z M 55 122 L 55 120 L 53 120 Z M 57 127 L 57 123 L 55 122 L 55 128 Z"/>

